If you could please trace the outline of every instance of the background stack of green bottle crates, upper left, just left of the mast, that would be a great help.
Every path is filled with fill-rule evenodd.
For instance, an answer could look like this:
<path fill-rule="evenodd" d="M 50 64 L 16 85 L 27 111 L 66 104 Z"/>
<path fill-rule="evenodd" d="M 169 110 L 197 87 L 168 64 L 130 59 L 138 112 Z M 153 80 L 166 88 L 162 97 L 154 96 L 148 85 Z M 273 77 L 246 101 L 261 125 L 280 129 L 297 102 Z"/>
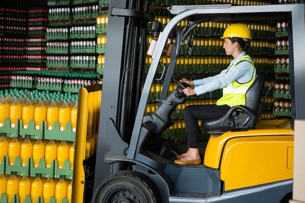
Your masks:
<path fill-rule="evenodd" d="M 47 67 L 49 70 L 64 68 L 68 72 L 79 72 L 79 69 L 81 72 L 95 72 L 97 2 L 75 0 L 71 3 L 56 4 L 52 0 L 48 1 L 49 6 L 56 7 L 50 7 L 48 14 L 50 25 L 46 35 Z M 88 5 L 77 6 L 80 3 Z"/>

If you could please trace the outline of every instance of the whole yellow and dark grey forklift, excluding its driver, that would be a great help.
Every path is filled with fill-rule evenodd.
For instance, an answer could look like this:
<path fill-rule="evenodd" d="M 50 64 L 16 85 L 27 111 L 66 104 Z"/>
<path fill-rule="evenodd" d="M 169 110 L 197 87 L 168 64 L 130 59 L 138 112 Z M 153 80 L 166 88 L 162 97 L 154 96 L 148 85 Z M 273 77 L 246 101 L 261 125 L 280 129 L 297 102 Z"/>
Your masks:
<path fill-rule="evenodd" d="M 288 203 L 292 197 L 294 120 L 305 119 L 305 6 L 171 6 L 162 31 L 149 1 L 110 0 L 103 84 L 79 90 L 73 203 Z M 176 25 L 187 20 L 182 30 Z M 206 21 L 287 20 L 291 119 L 260 120 L 266 73 L 246 93 L 245 106 L 202 123 L 210 129 L 202 164 L 179 166 L 179 146 L 161 139 L 172 112 L 187 101 L 174 77 L 179 55 L 190 55 L 191 30 Z M 153 23 L 152 23 L 153 22 Z M 147 25 L 157 39 L 147 45 Z M 147 50 L 150 50 L 147 53 Z M 166 67 L 161 56 L 170 57 Z M 152 62 L 145 74 L 145 58 Z M 156 74 L 157 69 L 162 74 Z M 169 92 L 173 79 L 177 88 Z M 155 80 L 158 108 L 145 110 Z M 236 115 L 236 110 L 243 110 Z"/>

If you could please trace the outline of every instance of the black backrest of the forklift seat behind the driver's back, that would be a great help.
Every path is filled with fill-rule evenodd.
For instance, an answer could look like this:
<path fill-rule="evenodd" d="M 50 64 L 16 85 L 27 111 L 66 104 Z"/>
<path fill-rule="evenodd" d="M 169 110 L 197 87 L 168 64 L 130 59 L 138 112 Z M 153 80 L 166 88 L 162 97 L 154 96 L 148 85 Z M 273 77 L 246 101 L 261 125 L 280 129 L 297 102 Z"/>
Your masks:
<path fill-rule="evenodd" d="M 246 92 L 245 106 L 256 112 L 259 111 L 260 101 L 261 101 L 262 95 L 263 95 L 266 76 L 267 76 L 266 72 L 258 73 L 256 75 L 254 82 L 248 88 L 248 90 Z"/>

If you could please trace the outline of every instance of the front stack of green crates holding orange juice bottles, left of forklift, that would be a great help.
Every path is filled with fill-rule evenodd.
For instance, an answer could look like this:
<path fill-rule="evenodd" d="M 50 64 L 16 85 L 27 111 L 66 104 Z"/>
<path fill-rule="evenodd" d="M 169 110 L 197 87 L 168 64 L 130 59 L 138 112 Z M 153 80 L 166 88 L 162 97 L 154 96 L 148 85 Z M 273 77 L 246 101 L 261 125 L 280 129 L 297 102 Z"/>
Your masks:
<path fill-rule="evenodd" d="M 0 203 L 71 203 L 77 94 L 0 98 Z"/>

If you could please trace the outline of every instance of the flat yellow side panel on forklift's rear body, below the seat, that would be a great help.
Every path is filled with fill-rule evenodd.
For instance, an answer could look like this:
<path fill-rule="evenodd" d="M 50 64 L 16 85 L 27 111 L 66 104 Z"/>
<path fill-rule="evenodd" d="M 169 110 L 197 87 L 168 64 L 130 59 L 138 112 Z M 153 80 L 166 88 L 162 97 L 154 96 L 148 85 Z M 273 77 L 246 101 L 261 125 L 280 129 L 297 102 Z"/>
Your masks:
<path fill-rule="evenodd" d="M 292 164 L 293 136 L 233 138 L 224 148 L 220 179 L 226 191 L 288 180 Z"/>

